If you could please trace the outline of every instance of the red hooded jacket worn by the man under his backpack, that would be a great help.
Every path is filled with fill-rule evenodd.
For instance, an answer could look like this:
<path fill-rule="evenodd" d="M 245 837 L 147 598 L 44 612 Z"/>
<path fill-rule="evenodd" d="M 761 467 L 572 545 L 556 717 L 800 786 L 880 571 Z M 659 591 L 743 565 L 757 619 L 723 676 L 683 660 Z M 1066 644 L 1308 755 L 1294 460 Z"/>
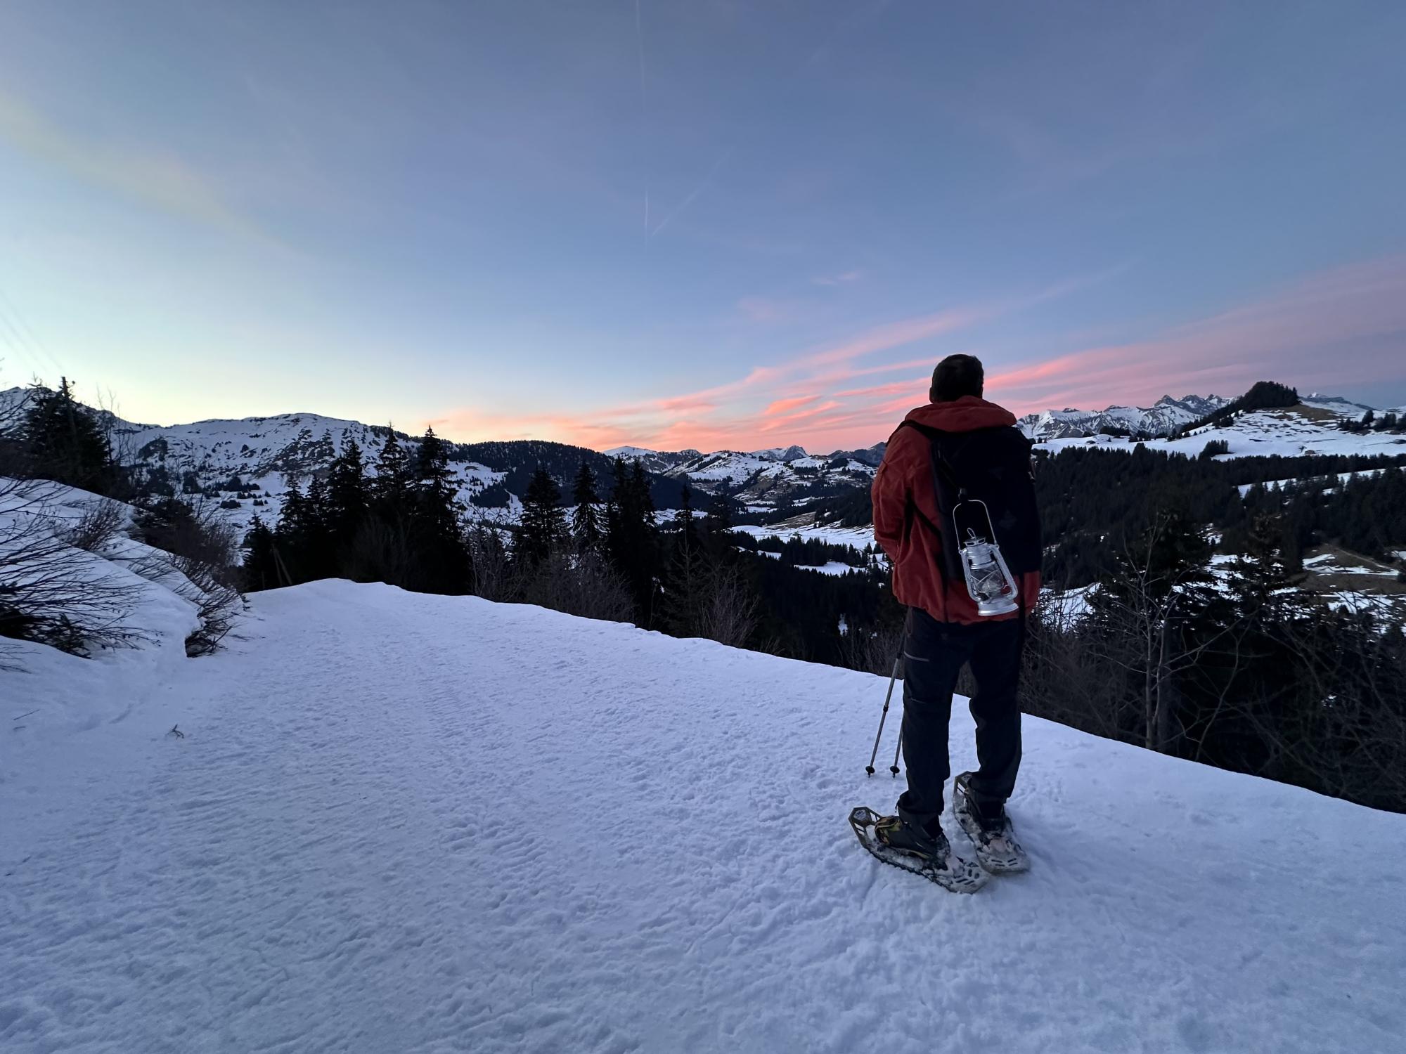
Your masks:
<path fill-rule="evenodd" d="M 955 402 L 929 402 L 908 412 L 904 420 L 943 431 L 973 431 L 1014 426 L 1015 415 L 994 402 L 963 395 Z M 904 607 L 921 607 L 939 623 L 987 623 L 1018 618 L 979 616 L 965 582 L 943 582 L 942 541 L 914 516 L 917 506 L 928 523 L 938 521 L 938 496 L 932 492 L 932 460 L 928 438 L 917 429 L 898 429 L 889 438 L 883 464 L 875 475 L 875 541 L 893 561 L 893 594 Z M 1040 594 L 1038 571 L 1021 575 L 1021 606 L 1028 611 Z"/>

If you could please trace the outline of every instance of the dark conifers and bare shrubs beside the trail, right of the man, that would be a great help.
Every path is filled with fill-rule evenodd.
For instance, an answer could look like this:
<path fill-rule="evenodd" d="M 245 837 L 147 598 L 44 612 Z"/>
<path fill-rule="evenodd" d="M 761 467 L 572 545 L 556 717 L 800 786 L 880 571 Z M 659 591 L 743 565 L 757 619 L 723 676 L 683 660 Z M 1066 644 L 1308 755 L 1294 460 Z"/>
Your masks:
<path fill-rule="evenodd" d="M 1406 811 L 1400 618 L 1294 589 L 1285 520 L 1282 510 L 1256 514 L 1244 558 L 1215 580 L 1204 533 L 1175 513 L 1156 516 L 1114 554 L 1085 614 L 1056 606 L 1033 614 L 1024 708 Z"/>

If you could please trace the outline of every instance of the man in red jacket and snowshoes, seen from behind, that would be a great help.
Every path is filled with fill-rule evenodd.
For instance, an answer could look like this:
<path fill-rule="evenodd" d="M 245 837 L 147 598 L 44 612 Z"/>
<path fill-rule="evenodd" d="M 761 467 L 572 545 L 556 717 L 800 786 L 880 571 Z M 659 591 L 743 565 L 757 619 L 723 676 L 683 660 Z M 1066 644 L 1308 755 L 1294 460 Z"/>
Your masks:
<path fill-rule="evenodd" d="M 1010 410 L 981 398 L 983 385 L 976 357 L 948 356 L 938 363 L 932 402 L 911 410 L 890 437 L 873 482 L 875 538 L 893 561 L 894 596 L 908 609 L 903 658 L 908 790 L 898 798 L 897 815 L 882 818 L 875 835 L 924 866 L 942 870 L 963 863 L 949 860 L 941 815 L 952 691 L 957 673 L 970 665 L 980 767 L 953 783 L 953 812 L 983 867 L 1014 871 L 1028 866 L 1005 800 L 1021 766 L 1015 694 L 1025 611 L 1040 589 L 1039 523 L 1029 441 Z M 1017 578 L 1018 606 L 1008 614 L 979 614 L 955 552 L 945 551 L 945 544 L 956 548 L 956 534 L 948 530 L 952 507 L 973 495 L 990 499 L 995 541 Z"/>

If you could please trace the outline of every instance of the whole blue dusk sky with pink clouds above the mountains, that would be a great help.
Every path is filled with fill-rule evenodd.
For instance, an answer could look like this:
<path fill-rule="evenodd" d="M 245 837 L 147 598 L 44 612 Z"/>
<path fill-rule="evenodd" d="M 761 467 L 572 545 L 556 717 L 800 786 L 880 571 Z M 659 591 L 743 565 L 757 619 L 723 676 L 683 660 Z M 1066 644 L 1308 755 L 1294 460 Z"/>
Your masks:
<path fill-rule="evenodd" d="M 1406 403 L 1406 4 L 0 3 L 0 388 L 457 440 Z"/>

